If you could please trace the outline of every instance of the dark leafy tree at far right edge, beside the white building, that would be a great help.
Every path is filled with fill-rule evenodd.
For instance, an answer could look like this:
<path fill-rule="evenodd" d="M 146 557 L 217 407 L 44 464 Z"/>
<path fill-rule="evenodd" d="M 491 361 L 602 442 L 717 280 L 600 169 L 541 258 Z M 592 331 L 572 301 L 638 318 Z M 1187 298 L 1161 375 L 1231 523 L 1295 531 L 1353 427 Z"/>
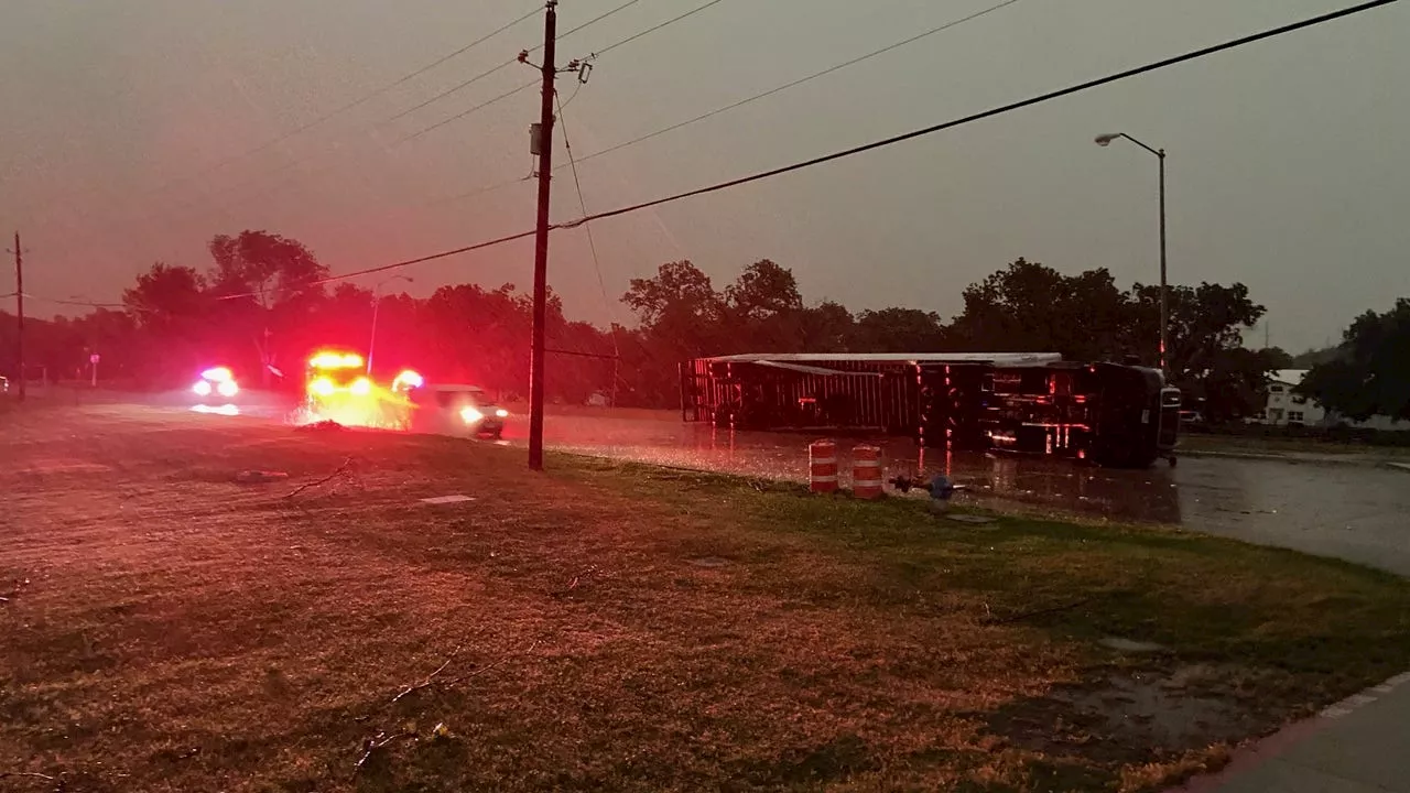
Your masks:
<path fill-rule="evenodd" d="M 1340 356 L 1314 365 L 1297 392 L 1356 420 L 1410 419 L 1410 298 L 1356 317 L 1342 333 Z"/>

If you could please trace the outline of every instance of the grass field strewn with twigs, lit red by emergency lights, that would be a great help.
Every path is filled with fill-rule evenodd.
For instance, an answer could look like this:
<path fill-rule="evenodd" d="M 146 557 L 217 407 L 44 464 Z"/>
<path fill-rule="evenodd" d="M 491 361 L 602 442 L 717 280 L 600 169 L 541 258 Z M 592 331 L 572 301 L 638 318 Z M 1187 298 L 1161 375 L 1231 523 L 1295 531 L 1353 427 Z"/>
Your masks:
<path fill-rule="evenodd" d="M 1187 533 L 124 406 L 0 453 L 0 790 L 1159 790 L 1410 667 L 1400 579 Z"/>

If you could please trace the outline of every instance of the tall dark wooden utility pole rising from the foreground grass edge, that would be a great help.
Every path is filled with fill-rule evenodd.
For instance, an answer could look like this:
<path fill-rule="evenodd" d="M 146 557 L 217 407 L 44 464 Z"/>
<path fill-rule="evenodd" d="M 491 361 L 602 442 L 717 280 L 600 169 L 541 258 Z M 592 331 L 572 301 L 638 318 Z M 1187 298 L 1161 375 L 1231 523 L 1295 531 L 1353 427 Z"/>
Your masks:
<path fill-rule="evenodd" d="M 558 0 L 547 0 L 543 23 L 543 106 L 539 113 L 539 226 L 533 253 L 533 343 L 529 353 L 529 468 L 543 470 L 543 340 L 548 319 L 548 198 L 553 192 L 553 96 L 558 68 Z M 527 54 L 519 56 L 525 61 Z"/>

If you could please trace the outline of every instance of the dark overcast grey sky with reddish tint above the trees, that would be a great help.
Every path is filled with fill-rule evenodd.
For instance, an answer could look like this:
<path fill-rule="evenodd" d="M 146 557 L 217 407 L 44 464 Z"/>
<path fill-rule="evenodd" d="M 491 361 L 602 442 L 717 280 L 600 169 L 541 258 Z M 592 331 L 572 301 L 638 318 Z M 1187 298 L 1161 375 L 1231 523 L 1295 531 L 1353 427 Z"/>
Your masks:
<path fill-rule="evenodd" d="M 622 0 L 564 0 L 568 30 Z M 995 0 L 723 0 L 603 55 L 565 111 L 578 155 L 759 93 Z M 643 0 L 564 38 L 603 49 L 702 0 Z M 591 209 L 801 159 L 1342 7 L 1327 0 L 1019 0 L 859 66 L 595 158 Z M 509 0 L 4 0 L 0 227 L 31 250 L 27 292 L 114 301 L 152 261 L 204 267 L 216 233 L 268 229 L 334 271 L 533 223 L 525 90 L 393 141 L 534 78 L 503 69 L 386 119 L 541 40 L 526 21 L 254 157 L 210 169 L 534 7 Z M 691 258 L 721 285 L 768 257 L 809 301 L 952 315 L 1015 257 L 1156 279 L 1156 161 L 1169 150 L 1172 282 L 1244 281 L 1275 344 L 1320 346 L 1410 295 L 1410 4 L 553 238 L 572 315 L 626 319 L 629 278 Z M 564 82 L 564 96 L 572 83 Z M 561 154 L 560 154 L 561 157 Z M 288 167 L 289 162 L 298 165 Z M 172 181 L 175 186 L 157 189 Z M 571 178 L 554 217 L 578 214 Z M 417 265 L 413 293 L 527 286 L 510 244 Z M 0 284 L 8 284 L 3 281 Z M 362 281 L 364 285 L 368 281 Z M 8 289 L 0 289 L 8 291 Z M 42 306 L 41 306 L 41 310 Z M 1262 329 L 1258 333 L 1262 341 Z"/>

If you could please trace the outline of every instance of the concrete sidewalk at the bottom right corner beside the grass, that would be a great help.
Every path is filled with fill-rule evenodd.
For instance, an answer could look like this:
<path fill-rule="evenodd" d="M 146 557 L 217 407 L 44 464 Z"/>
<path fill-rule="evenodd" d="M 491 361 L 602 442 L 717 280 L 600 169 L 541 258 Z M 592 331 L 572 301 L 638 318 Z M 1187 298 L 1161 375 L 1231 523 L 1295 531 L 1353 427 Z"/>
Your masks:
<path fill-rule="evenodd" d="M 1235 755 L 1170 793 L 1410 793 L 1410 673 Z"/>

